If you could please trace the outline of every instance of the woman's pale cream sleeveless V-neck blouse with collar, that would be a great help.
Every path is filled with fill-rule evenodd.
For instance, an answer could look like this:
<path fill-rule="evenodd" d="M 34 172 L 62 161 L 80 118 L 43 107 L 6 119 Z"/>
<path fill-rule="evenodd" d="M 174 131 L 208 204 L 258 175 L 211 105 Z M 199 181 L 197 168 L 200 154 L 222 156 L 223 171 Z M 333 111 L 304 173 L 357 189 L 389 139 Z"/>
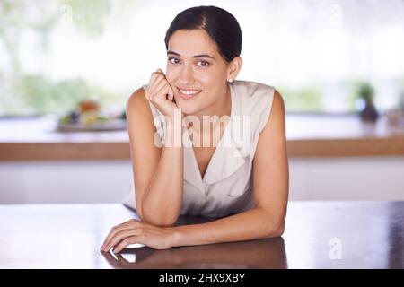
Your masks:
<path fill-rule="evenodd" d="M 259 134 L 268 122 L 275 90 L 263 83 L 248 81 L 234 81 L 229 85 L 232 100 L 230 121 L 206 167 L 204 178 L 200 175 L 188 128 L 183 126 L 181 214 L 226 216 L 254 207 L 252 161 Z M 149 104 L 157 130 L 154 141 L 162 144 L 164 117 L 151 102 Z M 124 204 L 135 209 L 134 185 Z"/>

